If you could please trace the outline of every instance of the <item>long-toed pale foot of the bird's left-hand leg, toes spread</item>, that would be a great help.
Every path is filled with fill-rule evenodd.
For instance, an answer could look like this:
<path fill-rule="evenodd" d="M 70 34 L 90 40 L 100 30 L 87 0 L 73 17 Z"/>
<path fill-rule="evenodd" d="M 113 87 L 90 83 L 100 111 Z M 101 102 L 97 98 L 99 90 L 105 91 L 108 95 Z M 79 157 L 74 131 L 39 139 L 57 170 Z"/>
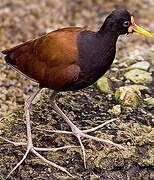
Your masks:
<path fill-rule="evenodd" d="M 41 154 L 39 154 L 37 151 L 58 151 L 58 150 L 63 150 L 63 149 L 67 149 L 67 148 L 72 148 L 72 147 L 77 147 L 77 146 L 63 146 L 63 147 L 59 147 L 59 148 L 38 148 L 38 147 L 33 147 L 32 144 L 28 144 L 28 143 L 23 143 L 23 142 L 14 142 L 14 141 L 11 141 L 11 140 L 8 140 L 4 137 L 1 137 L 0 136 L 0 139 L 6 141 L 6 142 L 9 142 L 15 146 L 27 146 L 27 151 L 26 153 L 24 154 L 23 158 L 21 159 L 21 161 L 11 170 L 11 172 L 8 174 L 7 178 L 22 164 L 22 162 L 26 159 L 27 155 L 29 152 L 32 152 L 33 154 L 35 154 L 38 158 L 40 158 L 44 163 L 50 165 L 50 166 L 53 166 L 63 172 L 65 172 L 66 174 L 68 174 L 69 176 L 72 177 L 72 175 L 63 167 L 47 160 L 45 157 L 43 157 Z M 7 179 L 6 178 L 6 179 Z"/>

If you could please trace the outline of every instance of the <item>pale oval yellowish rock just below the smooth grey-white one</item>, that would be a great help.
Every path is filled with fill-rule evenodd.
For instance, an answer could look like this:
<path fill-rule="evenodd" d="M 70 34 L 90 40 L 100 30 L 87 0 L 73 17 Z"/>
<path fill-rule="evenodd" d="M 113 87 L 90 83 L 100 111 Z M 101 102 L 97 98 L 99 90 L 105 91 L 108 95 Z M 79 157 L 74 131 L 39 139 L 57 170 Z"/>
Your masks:
<path fill-rule="evenodd" d="M 129 79 L 134 83 L 148 83 L 152 81 L 151 73 L 140 69 L 132 69 L 126 72 L 124 76 L 126 79 Z"/>

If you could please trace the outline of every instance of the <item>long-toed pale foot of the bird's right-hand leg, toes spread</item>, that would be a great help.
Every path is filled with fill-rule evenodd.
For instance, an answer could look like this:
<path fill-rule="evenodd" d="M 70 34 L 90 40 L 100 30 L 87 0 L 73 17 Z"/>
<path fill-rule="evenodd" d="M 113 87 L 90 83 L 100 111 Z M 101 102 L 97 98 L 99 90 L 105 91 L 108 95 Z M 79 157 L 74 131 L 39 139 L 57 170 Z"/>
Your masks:
<path fill-rule="evenodd" d="M 105 140 L 105 139 L 102 139 L 102 138 L 98 138 L 98 137 L 94 137 L 94 136 L 91 136 L 91 135 L 88 135 L 87 133 L 89 132 L 93 132 L 93 131 L 96 131 L 97 129 L 100 129 L 102 128 L 103 126 L 105 126 L 106 124 L 108 123 L 111 123 L 113 121 L 115 121 L 116 119 L 112 119 L 112 120 L 109 120 L 95 128 L 91 128 L 91 129 L 88 129 L 88 130 L 80 130 L 77 126 L 75 126 L 74 124 L 71 124 L 71 129 L 72 129 L 72 132 L 70 131 L 59 131 L 59 130 L 56 130 L 56 131 L 52 131 L 52 130 L 45 130 L 45 131 L 48 131 L 48 132 L 55 132 L 55 133 L 62 133 L 62 134 L 72 134 L 72 135 L 75 135 L 77 138 L 78 138 L 78 141 L 80 143 L 80 146 L 81 146 L 81 149 L 82 149 L 82 152 L 83 152 L 83 159 L 84 159 L 84 166 L 86 168 L 86 153 L 85 153 L 85 148 L 84 148 L 84 145 L 81 141 L 81 137 L 84 137 L 84 138 L 87 138 L 87 139 L 92 139 L 92 140 L 95 140 L 95 141 L 98 141 L 98 142 L 103 142 L 103 143 L 107 143 L 107 144 L 111 144 L 115 147 L 117 147 L 118 149 L 122 149 L 122 150 L 126 150 L 126 148 L 120 144 L 116 144 L 110 140 Z"/>

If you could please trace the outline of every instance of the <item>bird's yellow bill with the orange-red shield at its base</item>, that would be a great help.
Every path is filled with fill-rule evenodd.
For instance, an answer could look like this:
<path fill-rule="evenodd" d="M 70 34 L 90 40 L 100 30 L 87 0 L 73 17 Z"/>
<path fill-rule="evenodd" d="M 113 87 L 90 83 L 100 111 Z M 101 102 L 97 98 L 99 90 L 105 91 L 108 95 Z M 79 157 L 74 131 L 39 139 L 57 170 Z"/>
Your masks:
<path fill-rule="evenodd" d="M 148 31 L 144 30 L 143 28 L 141 28 L 141 27 L 139 27 L 138 25 L 135 24 L 133 16 L 131 17 L 131 23 L 132 24 L 129 26 L 128 32 L 133 32 L 133 30 L 134 30 L 134 31 L 136 31 L 136 32 L 138 32 L 140 34 L 145 35 L 145 36 L 152 37 L 151 33 L 149 33 Z"/>

